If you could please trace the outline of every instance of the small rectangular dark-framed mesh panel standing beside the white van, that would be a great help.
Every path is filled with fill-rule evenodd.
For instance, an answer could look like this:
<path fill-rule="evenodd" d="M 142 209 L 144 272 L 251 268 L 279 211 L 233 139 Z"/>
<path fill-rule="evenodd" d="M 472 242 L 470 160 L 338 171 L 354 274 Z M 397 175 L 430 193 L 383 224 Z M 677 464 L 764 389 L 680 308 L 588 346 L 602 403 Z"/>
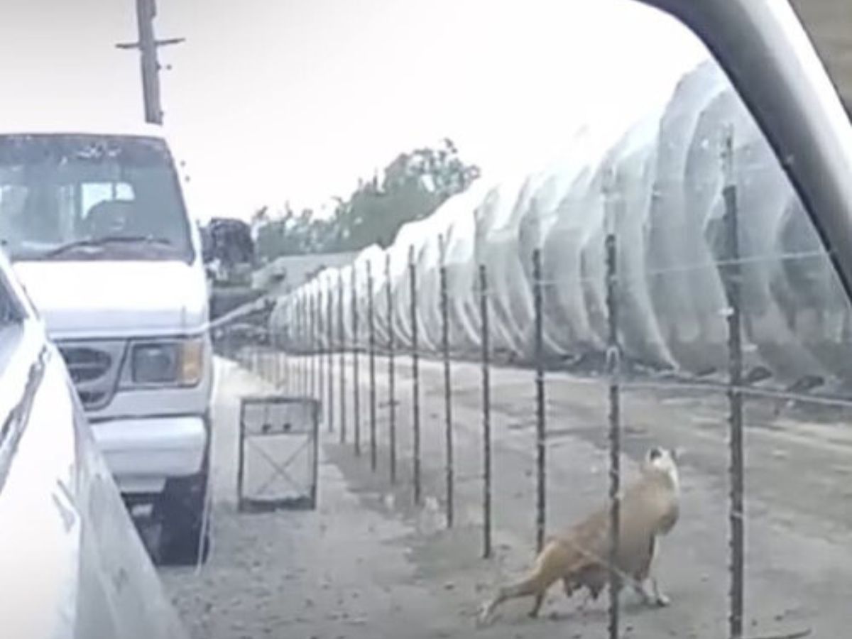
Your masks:
<path fill-rule="evenodd" d="M 241 512 L 314 509 L 320 402 L 255 395 L 239 402 L 237 505 Z"/>

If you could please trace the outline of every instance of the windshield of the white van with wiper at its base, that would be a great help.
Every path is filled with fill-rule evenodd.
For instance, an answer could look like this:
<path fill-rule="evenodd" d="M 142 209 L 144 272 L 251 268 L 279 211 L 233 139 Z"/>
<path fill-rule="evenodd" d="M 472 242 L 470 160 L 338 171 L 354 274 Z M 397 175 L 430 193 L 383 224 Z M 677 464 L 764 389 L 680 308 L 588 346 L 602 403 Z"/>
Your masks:
<path fill-rule="evenodd" d="M 193 260 L 168 148 L 136 136 L 0 135 L 0 241 L 12 260 Z"/>

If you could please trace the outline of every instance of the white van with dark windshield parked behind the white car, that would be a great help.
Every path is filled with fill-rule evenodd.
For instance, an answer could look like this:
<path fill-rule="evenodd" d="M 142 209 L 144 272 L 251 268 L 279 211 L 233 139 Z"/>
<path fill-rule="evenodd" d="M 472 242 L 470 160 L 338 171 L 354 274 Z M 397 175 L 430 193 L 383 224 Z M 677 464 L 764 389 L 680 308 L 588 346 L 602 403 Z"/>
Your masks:
<path fill-rule="evenodd" d="M 0 132 L 0 241 L 158 559 L 206 553 L 212 354 L 198 227 L 159 127 Z"/>

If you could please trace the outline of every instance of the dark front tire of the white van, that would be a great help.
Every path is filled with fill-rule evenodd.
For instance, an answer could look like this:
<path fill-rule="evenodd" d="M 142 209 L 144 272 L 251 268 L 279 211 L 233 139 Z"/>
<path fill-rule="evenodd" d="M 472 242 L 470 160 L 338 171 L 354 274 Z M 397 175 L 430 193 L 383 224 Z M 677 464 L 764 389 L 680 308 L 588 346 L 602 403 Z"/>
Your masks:
<path fill-rule="evenodd" d="M 205 526 L 208 467 L 198 475 L 166 481 L 165 489 L 154 506 L 154 518 L 160 525 L 158 563 L 191 566 L 207 561 L 210 531 Z"/>

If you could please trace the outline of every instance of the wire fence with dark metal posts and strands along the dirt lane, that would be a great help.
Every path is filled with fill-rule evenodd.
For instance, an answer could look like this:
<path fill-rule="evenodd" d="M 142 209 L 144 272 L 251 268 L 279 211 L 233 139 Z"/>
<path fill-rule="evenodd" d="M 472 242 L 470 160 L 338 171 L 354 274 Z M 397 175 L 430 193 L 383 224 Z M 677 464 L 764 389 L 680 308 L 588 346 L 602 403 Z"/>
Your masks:
<path fill-rule="evenodd" d="M 791 385 L 786 389 L 769 389 L 758 386 L 760 379 L 750 379 L 746 375 L 744 353 L 748 344 L 744 343 L 743 307 L 743 278 L 744 269 L 761 260 L 771 259 L 774 262 L 788 260 L 809 261 L 828 259 L 826 253 L 801 251 L 786 253 L 781 256 L 740 256 L 740 227 L 738 225 L 738 193 L 737 184 L 733 179 L 733 139 L 726 140 L 726 155 L 723 158 L 722 201 L 724 215 L 722 224 L 725 231 L 724 253 L 717 262 L 687 264 L 671 269 L 649 269 L 642 277 L 682 273 L 696 270 L 712 270 L 718 273 L 724 285 L 725 299 L 728 308 L 724 310 L 727 332 L 725 348 L 727 350 L 727 378 L 717 380 L 696 380 L 689 376 L 678 376 L 669 373 L 667 378 L 653 372 L 631 372 L 623 368 L 624 346 L 622 337 L 624 327 L 620 325 L 620 301 L 624 299 L 623 291 L 630 287 L 631 278 L 619 271 L 619 234 L 618 225 L 607 229 L 602 237 L 602 256 L 605 264 L 602 270 L 602 280 L 592 282 L 591 278 L 580 278 L 581 283 L 594 283 L 602 286 L 605 291 L 605 308 L 602 313 L 606 320 L 607 332 L 604 338 L 604 357 L 601 373 L 605 375 L 607 388 L 607 462 L 609 486 L 607 491 L 609 504 L 609 533 L 610 545 L 607 559 L 597 561 L 607 563 L 609 567 L 609 606 L 608 636 L 617 639 L 623 636 L 622 617 L 620 614 L 619 591 L 625 583 L 625 575 L 617 566 L 619 551 L 619 534 L 621 533 L 621 497 L 623 490 L 622 469 L 622 438 L 625 436 L 625 423 L 630 423 L 630 412 L 625 411 L 623 404 L 629 405 L 631 394 L 647 391 L 657 391 L 661 394 L 695 392 L 706 395 L 718 395 L 727 398 L 728 404 L 728 636 L 731 639 L 741 639 L 746 627 L 746 483 L 745 483 L 745 453 L 746 453 L 746 423 L 745 410 L 748 401 L 773 401 L 785 406 L 797 402 L 806 402 L 817 406 L 828 406 L 838 409 L 852 409 L 852 400 L 841 394 L 820 394 L 820 388 L 825 383 L 812 383 L 809 388 L 797 388 Z M 606 197 L 606 194 L 605 194 Z M 607 200 L 607 216 L 619 216 L 617 199 Z M 339 429 L 339 443 L 348 444 L 348 424 L 353 427 L 354 454 L 361 454 L 361 393 L 363 392 L 361 377 L 361 360 L 366 355 L 367 393 L 369 409 L 369 450 L 371 469 L 376 471 L 379 464 L 379 453 L 387 452 L 387 469 L 389 482 L 396 484 L 398 475 L 398 455 L 400 441 L 398 440 L 398 411 L 403 399 L 410 404 L 411 417 L 411 455 L 412 475 L 406 478 L 411 482 L 413 504 L 422 504 L 424 492 L 429 490 L 428 482 L 423 478 L 424 461 L 423 440 L 439 442 L 443 456 L 442 472 L 442 507 L 446 515 L 446 527 L 458 525 L 459 509 L 457 492 L 462 492 L 464 486 L 481 482 L 481 518 L 478 521 L 482 527 L 481 554 L 492 556 L 494 522 L 498 521 L 497 509 L 500 501 L 494 500 L 494 478 L 501 469 L 495 466 L 500 457 L 493 457 L 495 441 L 505 435 L 502 429 L 493 429 L 493 412 L 495 402 L 499 403 L 499 393 L 492 392 L 492 369 L 501 363 L 505 366 L 528 366 L 530 376 L 530 406 L 521 407 L 521 413 L 527 413 L 521 426 L 529 425 L 534 435 L 530 438 L 530 457 L 534 460 L 534 471 L 530 509 L 534 513 L 531 521 L 531 541 L 538 550 L 546 543 L 546 527 L 548 525 L 548 454 L 559 446 L 571 444 L 558 440 L 558 431 L 548 427 L 549 382 L 565 382 L 587 385 L 590 388 L 600 388 L 602 379 L 593 376 L 583 377 L 576 373 L 560 371 L 559 366 L 553 366 L 545 354 L 547 329 L 545 322 L 546 296 L 551 287 L 558 283 L 545 278 L 547 265 L 544 263 L 544 253 L 539 247 L 527 257 L 525 268 L 529 269 L 532 305 L 532 352 L 529 360 L 518 362 L 501 362 L 496 357 L 494 340 L 495 321 L 500 317 L 501 310 L 493 299 L 493 289 L 490 286 L 492 273 L 486 264 L 479 264 L 476 272 L 475 292 L 478 295 L 478 329 L 480 339 L 477 344 L 478 358 L 468 352 L 456 352 L 452 348 L 452 331 L 454 327 L 450 318 L 450 279 L 452 269 L 445 261 L 443 247 L 444 239 L 440 239 L 441 259 L 437 273 L 421 273 L 417 267 L 415 250 L 409 251 L 406 263 L 405 288 L 389 285 L 392 281 L 392 265 L 389 254 L 385 256 L 384 282 L 376 286 L 373 279 L 371 262 L 366 262 L 363 273 L 356 268 L 351 270 L 349 291 L 345 291 L 343 275 L 338 275 L 337 290 L 314 289 L 309 295 L 301 293 L 294 299 L 291 327 L 280 331 L 280 334 L 262 336 L 263 331 L 270 331 L 270 303 L 255 304 L 250 309 L 243 309 L 237 314 L 231 314 L 214 323 L 214 338 L 217 352 L 229 359 L 240 362 L 246 368 L 255 371 L 270 380 L 279 389 L 288 393 L 299 393 L 320 398 L 325 404 L 323 416 L 327 423 L 328 432 L 334 432 L 336 425 Z M 432 279 L 436 276 L 436 279 Z M 366 280 L 366 294 L 360 286 L 361 279 Z M 418 296 L 424 288 L 436 286 L 439 300 L 438 317 L 440 323 L 439 337 L 435 343 L 421 344 L 423 337 L 423 318 L 418 308 Z M 336 294 L 335 294 L 336 293 Z M 397 293 L 400 293 L 398 296 Z M 384 303 L 382 303 L 384 302 Z M 407 313 L 400 313 L 398 304 L 407 302 Z M 382 308 L 383 307 L 383 308 Z M 345 308 L 348 312 L 348 326 Z M 262 318 L 256 320 L 257 317 Z M 260 328 L 258 328 L 260 326 Z M 364 327 L 366 326 L 366 334 Z M 428 340 L 427 340 L 428 341 Z M 400 364 L 399 358 L 409 360 L 407 367 Z M 337 359 L 337 362 L 335 361 Z M 377 365 L 384 359 L 386 369 L 383 382 L 377 379 Z M 478 384 L 475 380 L 469 385 L 458 383 L 453 377 L 454 372 L 463 366 L 463 361 L 469 363 L 479 360 L 481 368 Z M 443 399 L 443 428 L 423 430 L 422 396 L 429 394 L 424 389 L 421 368 L 427 360 L 434 360 L 438 371 L 440 394 Z M 562 367 L 565 368 L 564 366 Z M 556 370 L 555 370 L 556 369 Z M 351 371 L 352 402 L 347 397 L 350 389 L 348 382 Z M 400 393 L 400 381 L 403 375 L 410 377 L 410 393 Z M 722 375 L 719 371 L 717 377 Z M 454 422 L 456 413 L 454 406 L 459 398 L 472 390 L 481 393 L 481 458 L 479 469 L 465 472 L 457 468 L 458 452 L 456 451 L 458 437 L 457 424 Z M 401 397 L 400 397 L 401 395 Z M 401 411 L 400 411 L 401 412 Z M 533 417 L 528 417 L 528 415 Z M 777 412 L 776 412 L 777 416 Z M 351 420 L 351 421 L 350 421 Z M 625 423 L 623 423 L 625 422 Z M 381 427 L 381 429 L 380 429 Z M 438 435 L 442 433 L 442 437 Z M 492 439 L 495 438 L 496 439 Z M 436 495 L 436 497 L 438 497 Z M 469 523 L 469 522 L 465 522 Z"/>

